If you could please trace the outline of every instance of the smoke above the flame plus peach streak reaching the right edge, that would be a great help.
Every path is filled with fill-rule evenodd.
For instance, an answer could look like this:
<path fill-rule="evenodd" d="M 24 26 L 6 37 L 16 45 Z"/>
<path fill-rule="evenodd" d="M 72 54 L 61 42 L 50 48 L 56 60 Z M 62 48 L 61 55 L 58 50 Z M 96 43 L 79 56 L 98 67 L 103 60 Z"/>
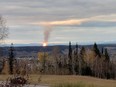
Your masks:
<path fill-rule="evenodd" d="M 69 20 L 62 20 L 62 21 L 50 21 L 50 22 L 39 22 L 34 24 L 39 24 L 42 26 L 45 26 L 44 31 L 44 43 L 48 43 L 48 38 L 50 36 L 52 26 L 64 26 L 64 25 L 80 25 L 84 22 L 89 21 L 116 21 L 114 19 L 108 19 L 109 15 L 100 15 L 100 16 L 94 16 L 89 18 L 83 18 L 83 19 L 69 19 Z M 115 15 L 110 15 L 110 17 L 115 17 Z"/>

